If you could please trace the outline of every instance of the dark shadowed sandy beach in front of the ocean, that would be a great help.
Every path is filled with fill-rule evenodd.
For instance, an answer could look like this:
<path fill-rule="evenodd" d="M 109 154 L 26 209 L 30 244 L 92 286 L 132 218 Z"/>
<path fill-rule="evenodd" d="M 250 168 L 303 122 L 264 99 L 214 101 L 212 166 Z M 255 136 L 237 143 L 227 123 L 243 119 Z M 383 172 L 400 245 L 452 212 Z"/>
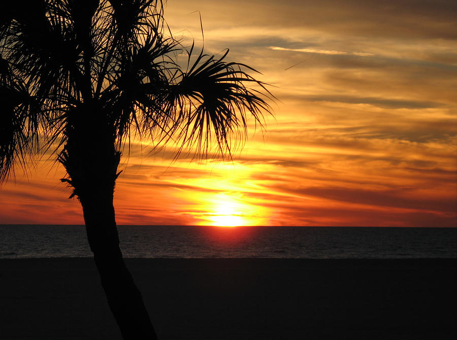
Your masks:
<path fill-rule="evenodd" d="M 128 259 L 160 340 L 456 338 L 456 259 Z M 0 339 L 120 339 L 90 258 L 0 260 Z"/>

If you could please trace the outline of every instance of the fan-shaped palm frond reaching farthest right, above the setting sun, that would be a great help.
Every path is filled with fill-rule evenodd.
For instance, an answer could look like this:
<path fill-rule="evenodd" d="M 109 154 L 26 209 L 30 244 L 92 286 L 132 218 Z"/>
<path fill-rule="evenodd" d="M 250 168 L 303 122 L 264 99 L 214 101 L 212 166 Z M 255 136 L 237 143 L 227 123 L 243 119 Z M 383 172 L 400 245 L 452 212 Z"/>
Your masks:
<path fill-rule="evenodd" d="M 255 69 L 224 61 L 228 49 L 220 58 L 202 51 L 190 64 L 192 49 L 193 45 L 188 70 L 179 75 L 172 87 L 171 97 L 177 114 L 175 126 L 181 127 L 179 139 L 183 146 L 196 147 L 204 156 L 213 143 L 222 156 L 231 156 L 234 146 L 236 148 L 247 135 L 249 118 L 253 118 L 255 126 L 264 128 L 264 114 L 272 114 L 267 101 L 274 96 L 266 88 L 267 84 L 246 72 L 257 72 Z"/>

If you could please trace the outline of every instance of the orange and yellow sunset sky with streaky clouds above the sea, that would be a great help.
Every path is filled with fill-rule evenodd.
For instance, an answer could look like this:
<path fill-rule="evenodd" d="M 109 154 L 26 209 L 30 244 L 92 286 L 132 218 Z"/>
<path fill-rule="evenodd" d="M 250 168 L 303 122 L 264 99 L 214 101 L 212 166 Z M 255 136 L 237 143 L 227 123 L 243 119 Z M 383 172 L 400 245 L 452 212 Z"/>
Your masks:
<path fill-rule="evenodd" d="M 455 1 L 169 0 L 171 32 L 262 72 L 277 100 L 232 160 L 135 142 L 118 224 L 457 225 Z M 180 56 L 184 57 L 184 56 Z M 0 188 L 0 223 L 83 224 L 43 158 Z"/>

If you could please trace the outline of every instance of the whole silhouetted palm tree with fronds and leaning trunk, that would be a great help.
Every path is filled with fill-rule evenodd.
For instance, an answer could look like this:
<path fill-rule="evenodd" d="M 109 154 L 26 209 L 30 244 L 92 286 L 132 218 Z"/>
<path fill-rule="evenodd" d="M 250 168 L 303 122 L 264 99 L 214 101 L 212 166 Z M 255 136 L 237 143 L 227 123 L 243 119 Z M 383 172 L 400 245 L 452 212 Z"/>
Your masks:
<path fill-rule="evenodd" d="M 193 45 L 166 34 L 160 0 L 28 0 L 0 12 L 0 180 L 53 152 L 81 203 L 123 338 L 155 339 L 119 249 L 121 150 L 139 136 L 152 147 L 178 142 L 177 153 L 189 147 L 205 156 L 214 144 L 230 156 L 248 116 L 262 125 L 271 112 L 269 92 L 247 74 L 253 69 L 225 62 L 226 53 L 194 55 Z"/>

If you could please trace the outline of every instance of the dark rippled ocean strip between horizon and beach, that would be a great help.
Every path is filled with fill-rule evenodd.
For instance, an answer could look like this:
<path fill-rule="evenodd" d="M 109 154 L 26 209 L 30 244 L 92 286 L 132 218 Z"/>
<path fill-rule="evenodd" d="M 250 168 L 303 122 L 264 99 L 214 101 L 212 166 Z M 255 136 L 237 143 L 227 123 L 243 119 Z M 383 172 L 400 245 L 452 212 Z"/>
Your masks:
<path fill-rule="evenodd" d="M 457 229 L 118 226 L 124 257 L 456 258 Z M 84 226 L 0 225 L 0 258 L 90 257 Z"/>

